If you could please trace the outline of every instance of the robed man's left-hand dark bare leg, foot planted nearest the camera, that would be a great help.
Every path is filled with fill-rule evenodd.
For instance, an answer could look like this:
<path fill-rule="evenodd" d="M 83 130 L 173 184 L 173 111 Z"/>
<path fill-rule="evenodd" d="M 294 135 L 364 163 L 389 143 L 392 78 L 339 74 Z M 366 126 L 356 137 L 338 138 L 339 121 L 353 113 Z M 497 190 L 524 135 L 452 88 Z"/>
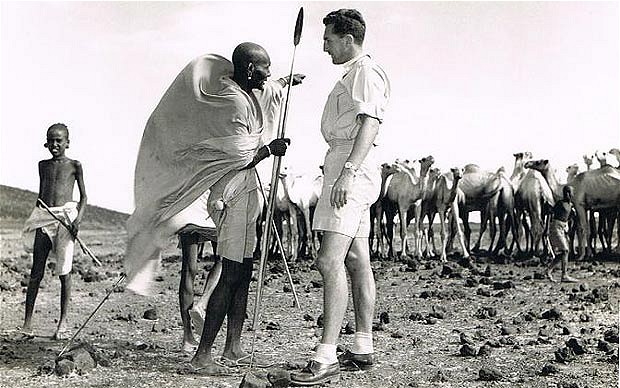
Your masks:
<path fill-rule="evenodd" d="M 217 374 L 221 370 L 213 360 L 213 343 L 241 286 L 242 267 L 243 264 L 222 257 L 222 274 L 209 299 L 206 313 L 208 319 L 205 321 L 198 350 L 191 361 L 194 368 L 204 371 L 205 374 Z"/>

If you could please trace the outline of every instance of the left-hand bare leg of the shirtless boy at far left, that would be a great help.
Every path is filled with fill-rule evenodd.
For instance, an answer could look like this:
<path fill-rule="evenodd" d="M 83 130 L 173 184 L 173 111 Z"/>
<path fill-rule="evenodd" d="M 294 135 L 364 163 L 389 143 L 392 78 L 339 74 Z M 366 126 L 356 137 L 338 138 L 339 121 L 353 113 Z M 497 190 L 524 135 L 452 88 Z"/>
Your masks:
<path fill-rule="evenodd" d="M 51 249 L 52 242 L 49 237 L 41 229 L 37 229 L 34 236 L 32 269 L 30 270 L 30 280 L 26 291 L 26 316 L 22 326 L 22 332 L 27 335 L 32 335 L 32 312 L 39 293 L 39 285 L 45 274 L 45 263 Z"/>

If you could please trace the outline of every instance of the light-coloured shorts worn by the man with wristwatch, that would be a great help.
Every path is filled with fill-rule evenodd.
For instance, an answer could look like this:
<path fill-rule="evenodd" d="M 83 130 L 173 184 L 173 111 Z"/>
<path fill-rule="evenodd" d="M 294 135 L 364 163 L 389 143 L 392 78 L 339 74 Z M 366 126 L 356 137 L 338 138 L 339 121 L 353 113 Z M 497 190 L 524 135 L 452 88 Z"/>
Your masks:
<path fill-rule="evenodd" d="M 336 232 L 351 238 L 370 234 L 370 206 L 379 198 L 381 190 L 381 167 L 374 150 L 358 169 L 353 189 L 347 193 L 347 203 L 336 208 L 329 203 L 332 187 L 351 153 L 352 143 L 335 144 L 325 156 L 323 189 L 316 206 L 312 229 Z"/>

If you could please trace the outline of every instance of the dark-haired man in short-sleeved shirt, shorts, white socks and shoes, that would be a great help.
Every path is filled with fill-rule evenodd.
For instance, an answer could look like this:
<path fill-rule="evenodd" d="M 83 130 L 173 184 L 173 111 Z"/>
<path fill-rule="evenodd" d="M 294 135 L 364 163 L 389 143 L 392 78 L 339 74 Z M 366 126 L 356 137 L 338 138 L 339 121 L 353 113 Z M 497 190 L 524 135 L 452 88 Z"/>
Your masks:
<path fill-rule="evenodd" d="M 367 369 L 374 362 L 375 281 L 368 251 L 369 209 L 381 188 L 374 143 L 390 84 L 383 69 L 363 51 L 366 23 L 357 10 L 330 12 L 323 24 L 323 50 L 334 64 L 343 65 L 345 74 L 329 94 L 321 118 L 321 133 L 329 150 L 313 229 L 324 232 L 317 258 L 324 281 L 324 330 L 308 365 L 291 374 L 296 386 L 335 382 L 341 367 Z M 356 329 L 351 350 L 337 357 L 336 341 L 347 309 L 347 273 Z"/>

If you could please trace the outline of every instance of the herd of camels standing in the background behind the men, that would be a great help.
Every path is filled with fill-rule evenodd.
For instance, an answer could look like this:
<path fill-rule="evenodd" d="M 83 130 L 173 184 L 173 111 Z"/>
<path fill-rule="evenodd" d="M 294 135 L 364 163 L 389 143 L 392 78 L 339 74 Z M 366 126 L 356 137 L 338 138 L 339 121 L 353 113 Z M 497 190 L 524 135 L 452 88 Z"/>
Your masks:
<path fill-rule="evenodd" d="M 594 158 L 599 167 L 594 168 Z M 578 258 L 591 256 L 598 237 L 605 252 L 612 250 L 615 224 L 616 253 L 620 253 L 620 150 L 584 155 L 587 170 L 573 164 L 566 169 L 566 182 L 560 182 L 548 160 L 533 160 L 530 152 L 514 154 L 510 176 L 501 167 L 484 171 L 475 164 L 442 172 L 433 167 L 432 156 L 418 161 L 396 160 L 381 166 L 381 193 L 370 209 L 370 251 L 381 258 L 394 258 L 394 225 L 398 216 L 403 257 L 439 256 L 447 260 L 446 250 L 458 238 L 463 257 L 480 249 L 487 225 L 488 251 L 494 255 L 535 256 L 549 253 L 547 231 L 555 201 L 562 198 L 564 185 L 573 187 L 570 235 L 577 234 Z M 618 166 L 609 159 L 615 157 Z M 313 208 L 321 192 L 322 175 L 294 175 L 284 168 L 280 173 L 276 200 L 276 225 L 282 234 L 286 225 L 287 256 L 316 257 L 319 236 L 311 232 Z M 469 213 L 480 212 L 480 233 L 470 250 Z M 439 217 L 440 250 L 435 246 L 433 228 Z M 286 223 L 283 222 L 286 220 Z M 463 228 L 461 229 L 460 221 Z M 411 227 L 410 227 L 411 226 Z M 497 229 L 499 236 L 497 241 Z M 413 238 L 410 239 L 410 231 Z M 508 245 L 509 233 L 511 234 Z M 412 243 L 412 244 L 411 244 Z M 515 249 L 516 246 L 516 249 Z M 572 249 L 572 248 L 571 248 Z"/>

